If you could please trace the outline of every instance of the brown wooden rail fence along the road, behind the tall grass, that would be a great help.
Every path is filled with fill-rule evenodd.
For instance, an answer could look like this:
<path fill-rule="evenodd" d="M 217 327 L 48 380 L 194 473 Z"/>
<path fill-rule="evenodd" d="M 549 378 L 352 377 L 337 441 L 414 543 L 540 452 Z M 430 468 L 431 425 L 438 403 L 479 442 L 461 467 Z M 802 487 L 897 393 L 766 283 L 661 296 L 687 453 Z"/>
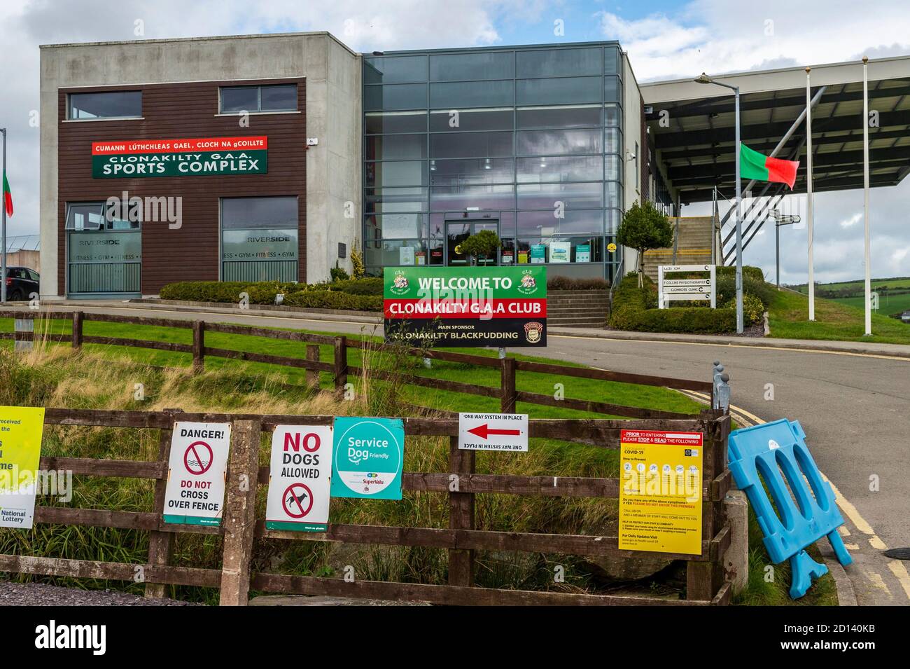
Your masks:
<path fill-rule="evenodd" d="M 347 337 L 329 337 L 327 335 L 308 334 L 290 330 L 258 328 L 246 325 L 233 325 L 227 323 L 212 323 L 203 320 L 157 319 L 136 316 L 116 316 L 111 314 L 88 314 L 81 311 L 0 311 L 0 318 L 15 319 L 67 319 L 72 321 L 71 334 L 54 334 L 48 340 L 55 342 L 71 342 L 74 349 L 78 350 L 83 344 L 106 344 L 110 346 L 130 346 L 136 348 L 167 350 L 192 355 L 193 368 L 203 370 L 206 358 L 227 358 L 232 360 L 247 360 L 249 362 L 263 362 L 268 364 L 293 367 L 308 370 L 307 380 L 311 386 L 319 386 L 319 372 L 328 373 L 335 390 L 344 390 L 349 376 L 359 376 L 364 373 L 363 368 L 349 365 L 348 350 L 383 351 L 395 350 L 385 344 L 370 343 L 368 341 L 348 340 Z M 172 341 L 136 340 L 117 337 L 96 337 L 83 334 L 86 320 L 106 323 L 126 323 L 133 325 L 157 326 L 165 328 L 192 329 L 192 344 L 182 344 Z M 25 340 L 42 338 L 39 328 L 31 333 L 0 332 L 0 340 L 17 339 Z M 270 355 L 268 353 L 254 353 L 243 350 L 216 349 L 206 345 L 207 332 L 220 332 L 251 337 L 264 337 L 272 340 L 299 341 L 306 347 L 305 358 Z M 332 348 L 331 360 L 320 359 L 320 345 Z M 512 358 L 490 358 L 468 353 L 456 353 L 443 350 L 409 349 L 409 354 L 418 358 L 432 360 L 446 360 L 460 362 L 480 367 L 489 367 L 500 370 L 500 387 L 483 386 L 455 380 L 442 380 L 416 374 L 401 374 L 400 372 L 386 372 L 382 370 L 369 370 L 369 375 L 379 380 L 395 378 L 404 380 L 410 385 L 423 386 L 436 390 L 450 390 L 481 397 L 499 398 L 501 411 L 511 413 L 515 411 L 516 402 L 529 402 L 548 406 L 573 409 L 578 411 L 591 411 L 611 416 L 626 418 L 639 418 L 645 420 L 686 419 L 693 414 L 676 411 L 661 411 L 628 407 L 620 404 L 602 401 L 579 400 L 572 398 L 557 399 L 550 394 L 541 394 L 517 389 L 517 376 L 519 371 L 553 374 L 576 379 L 622 381 L 638 385 L 657 386 L 677 390 L 695 390 L 703 392 L 713 398 L 713 382 L 710 380 L 673 379 L 668 377 L 649 376 L 645 374 L 629 374 L 609 370 L 595 370 L 583 367 L 569 367 L 567 365 L 553 365 L 529 360 L 514 360 Z"/>

